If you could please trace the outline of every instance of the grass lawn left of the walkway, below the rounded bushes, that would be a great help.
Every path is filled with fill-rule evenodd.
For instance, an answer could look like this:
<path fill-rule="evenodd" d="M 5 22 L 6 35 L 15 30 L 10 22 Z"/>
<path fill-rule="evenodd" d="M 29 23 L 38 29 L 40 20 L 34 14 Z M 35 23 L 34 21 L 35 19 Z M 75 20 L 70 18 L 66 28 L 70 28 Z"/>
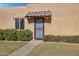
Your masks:
<path fill-rule="evenodd" d="M 24 46 L 25 44 L 27 44 L 28 42 L 24 42 L 24 41 L 18 41 L 18 42 L 4 42 L 4 41 L 0 41 L 0 56 L 6 56 L 10 53 L 12 53 L 13 51 L 15 51 L 16 49 Z"/>

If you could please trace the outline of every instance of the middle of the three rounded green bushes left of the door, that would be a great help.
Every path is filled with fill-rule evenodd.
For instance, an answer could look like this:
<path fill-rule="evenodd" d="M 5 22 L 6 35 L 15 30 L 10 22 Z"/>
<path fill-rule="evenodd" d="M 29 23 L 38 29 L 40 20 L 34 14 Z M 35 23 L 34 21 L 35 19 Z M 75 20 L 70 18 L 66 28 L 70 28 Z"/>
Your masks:
<path fill-rule="evenodd" d="M 17 41 L 17 31 L 13 29 L 12 30 L 7 29 L 5 30 L 3 37 L 5 40 L 8 41 Z"/>

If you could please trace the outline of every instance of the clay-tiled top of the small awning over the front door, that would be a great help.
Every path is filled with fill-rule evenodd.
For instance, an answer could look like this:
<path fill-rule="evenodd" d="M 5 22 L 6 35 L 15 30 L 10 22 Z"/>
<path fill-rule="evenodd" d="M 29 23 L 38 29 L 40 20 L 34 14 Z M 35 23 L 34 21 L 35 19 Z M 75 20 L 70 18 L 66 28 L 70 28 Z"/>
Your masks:
<path fill-rule="evenodd" d="M 26 14 L 26 17 L 29 17 L 29 16 L 51 16 L 52 13 L 51 11 L 32 11 L 32 12 L 28 12 Z"/>

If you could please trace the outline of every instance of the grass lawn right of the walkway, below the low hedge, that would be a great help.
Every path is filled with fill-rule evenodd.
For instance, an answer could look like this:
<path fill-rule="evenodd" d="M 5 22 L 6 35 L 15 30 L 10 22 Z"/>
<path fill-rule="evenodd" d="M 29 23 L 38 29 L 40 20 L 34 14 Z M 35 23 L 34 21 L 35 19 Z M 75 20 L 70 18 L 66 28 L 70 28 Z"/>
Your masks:
<path fill-rule="evenodd" d="M 79 56 L 79 44 L 44 42 L 34 48 L 28 56 Z"/>

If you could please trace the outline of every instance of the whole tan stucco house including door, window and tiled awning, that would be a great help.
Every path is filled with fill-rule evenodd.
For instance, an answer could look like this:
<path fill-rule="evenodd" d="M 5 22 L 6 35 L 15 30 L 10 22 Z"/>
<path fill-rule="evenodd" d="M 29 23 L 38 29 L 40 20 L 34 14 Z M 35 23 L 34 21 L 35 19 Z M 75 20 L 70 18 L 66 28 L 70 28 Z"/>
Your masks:
<path fill-rule="evenodd" d="M 28 4 L 0 8 L 0 29 L 30 29 L 34 38 L 79 35 L 79 4 Z"/>

